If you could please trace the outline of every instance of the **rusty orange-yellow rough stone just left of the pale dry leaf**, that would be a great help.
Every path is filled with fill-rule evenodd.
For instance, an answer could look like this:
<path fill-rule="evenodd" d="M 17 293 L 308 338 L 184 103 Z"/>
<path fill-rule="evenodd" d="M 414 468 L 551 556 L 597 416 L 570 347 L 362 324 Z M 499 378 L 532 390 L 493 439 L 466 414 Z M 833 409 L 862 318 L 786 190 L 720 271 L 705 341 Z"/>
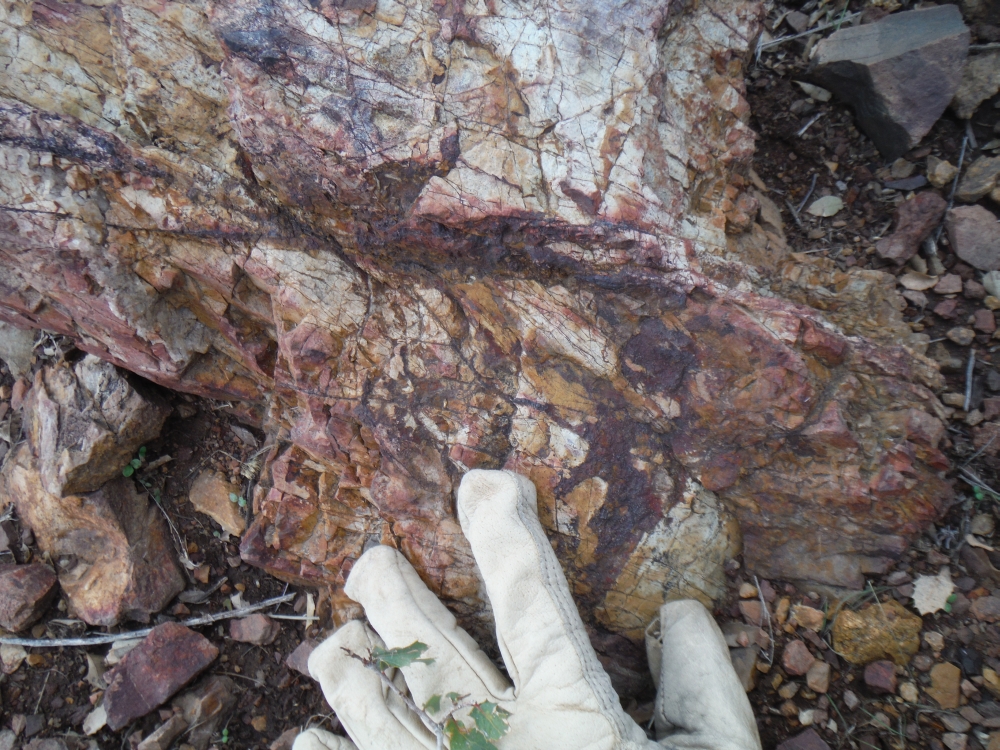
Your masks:
<path fill-rule="evenodd" d="M 857 612 L 845 609 L 833 621 L 833 648 L 851 664 L 877 659 L 907 664 L 920 650 L 924 621 L 895 599 Z"/>

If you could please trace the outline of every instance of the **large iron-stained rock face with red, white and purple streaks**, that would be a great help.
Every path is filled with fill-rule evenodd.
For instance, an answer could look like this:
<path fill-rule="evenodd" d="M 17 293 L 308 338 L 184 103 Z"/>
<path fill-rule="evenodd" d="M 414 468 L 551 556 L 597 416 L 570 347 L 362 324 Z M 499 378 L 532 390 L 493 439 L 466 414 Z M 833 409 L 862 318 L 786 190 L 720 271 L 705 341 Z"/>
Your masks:
<path fill-rule="evenodd" d="M 339 618 L 374 543 L 486 618 L 470 468 L 535 482 L 607 652 L 741 539 L 856 586 L 949 502 L 884 280 L 789 258 L 743 190 L 758 4 L 0 12 L 0 317 L 266 402 L 243 555 Z"/>

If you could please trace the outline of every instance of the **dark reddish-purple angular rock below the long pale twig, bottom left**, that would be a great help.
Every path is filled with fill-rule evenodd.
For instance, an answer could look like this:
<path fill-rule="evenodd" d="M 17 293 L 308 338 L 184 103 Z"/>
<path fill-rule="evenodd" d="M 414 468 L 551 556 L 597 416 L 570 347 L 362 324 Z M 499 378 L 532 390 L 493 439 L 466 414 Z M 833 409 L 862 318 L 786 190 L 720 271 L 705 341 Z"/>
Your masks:
<path fill-rule="evenodd" d="M 219 650 L 183 625 L 165 623 L 104 673 L 108 726 L 117 731 L 165 703 L 211 664 Z"/>

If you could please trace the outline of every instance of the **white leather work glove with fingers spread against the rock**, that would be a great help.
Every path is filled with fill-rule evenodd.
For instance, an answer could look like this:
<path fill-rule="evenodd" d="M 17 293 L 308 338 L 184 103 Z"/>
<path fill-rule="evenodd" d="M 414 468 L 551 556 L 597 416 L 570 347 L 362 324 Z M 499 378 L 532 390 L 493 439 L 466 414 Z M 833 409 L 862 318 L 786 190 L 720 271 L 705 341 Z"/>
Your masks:
<path fill-rule="evenodd" d="M 509 471 L 470 471 L 458 490 L 458 515 L 486 583 L 510 680 L 399 552 L 375 547 L 345 587 L 374 632 L 350 622 L 309 658 L 309 671 L 353 743 L 310 729 L 293 750 L 433 750 L 434 733 L 350 655 L 414 641 L 428 646 L 424 656 L 434 662 L 402 668 L 394 684 L 418 706 L 452 692 L 499 704 L 510 712 L 509 730 L 496 742 L 500 750 L 759 750 L 725 640 L 701 604 L 671 602 L 660 610 L 654 742 L 622 709 L 597 660 L 538 521 L 534 485 Z"/>

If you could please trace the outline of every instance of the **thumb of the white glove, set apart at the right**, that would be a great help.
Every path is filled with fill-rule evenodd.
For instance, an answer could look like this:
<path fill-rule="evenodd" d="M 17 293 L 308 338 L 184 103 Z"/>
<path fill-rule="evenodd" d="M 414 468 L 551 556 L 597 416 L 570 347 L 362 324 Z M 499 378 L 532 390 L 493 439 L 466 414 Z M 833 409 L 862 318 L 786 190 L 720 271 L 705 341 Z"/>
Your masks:
<path fill-rule="evenodd" d="M 760 750 L 757 722 L 715 619 L 700 602 L 660 608 L 657 737 L 677 748 Z"/>

